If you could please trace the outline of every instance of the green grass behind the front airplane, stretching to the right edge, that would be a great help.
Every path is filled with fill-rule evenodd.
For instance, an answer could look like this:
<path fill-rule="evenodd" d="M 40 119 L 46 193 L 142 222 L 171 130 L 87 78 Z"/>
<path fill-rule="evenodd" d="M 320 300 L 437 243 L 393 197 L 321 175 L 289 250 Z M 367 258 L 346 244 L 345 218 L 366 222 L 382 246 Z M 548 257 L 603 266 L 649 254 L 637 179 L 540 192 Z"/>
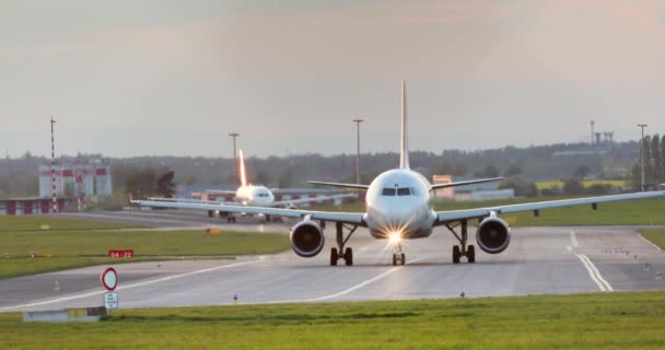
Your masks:
<path fill-rule="evenodd" d="M 558 200 L 571 197 L 518 198 L 487 201 L 439 201 L 434 209 L 459 210 L 503 205 L 516 205 L 544 200 Z M 315 210 L 337 210 L 364 212 L 364 206 L 350 203 L 342 207 L 318 206 Z M 513 226 L 567 226 L 567 225 L 651 225 L 665 224 L 665 198 L 642 199 L 599 203 L 598 210 L 591 206 L 575 206 L 540 211 L 535 218 L 532 211 L 502 215 Z"/>

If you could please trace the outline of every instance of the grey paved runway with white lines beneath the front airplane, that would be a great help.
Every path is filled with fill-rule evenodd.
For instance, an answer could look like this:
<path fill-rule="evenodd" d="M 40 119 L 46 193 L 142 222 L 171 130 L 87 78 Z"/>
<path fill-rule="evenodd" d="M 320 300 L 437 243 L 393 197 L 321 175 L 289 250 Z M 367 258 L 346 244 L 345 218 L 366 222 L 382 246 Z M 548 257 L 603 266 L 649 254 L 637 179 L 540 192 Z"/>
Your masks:
<path fill-rule="evenodd" d="M 137 222 L 163 220 L 162 228 L 220 222 L 200 212 L 102 214 L 117 220 L 135 215 Z M 253 218 L 241 221 L 231 226 L 288 232 L 288 224 L 266 225 Z M 407 265 L 398 267 L 392 265 L 393 252 L 385 242 L 371 238 L 365 230 L 349 241 L 354 266 L 329 266 L 332 233 L 329 228 L 326 248 L 310 259 L 287 252 L 235 260 L 116 265 L 120 307 L 232 304 L 234 295 L 240 303 L 278 303 L 458 298 L 462 292 L 475 298 L 665 290 L 665 279 L 658 276 L 665 275 L 665 255 L 631 228 L 515 229 L 504 253 L 488 255 L 477 249 L 476 264 L 463 258 L 458 265 L 451 262 L 456 240 L 438 229 L 430 238 L 408 241 Z M 104 268 L 2 280 L 0 312 L 101 305 Z M 55 281 L 60 291 L 54 291 Z"/>

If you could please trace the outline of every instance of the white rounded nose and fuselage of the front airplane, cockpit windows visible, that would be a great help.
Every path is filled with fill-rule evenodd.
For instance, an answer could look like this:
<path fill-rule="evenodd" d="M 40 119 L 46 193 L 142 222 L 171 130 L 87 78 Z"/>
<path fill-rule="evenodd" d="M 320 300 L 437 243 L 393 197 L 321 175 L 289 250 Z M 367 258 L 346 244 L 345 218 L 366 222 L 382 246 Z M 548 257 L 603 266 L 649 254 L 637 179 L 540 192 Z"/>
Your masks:
<path fill-rule="evenodd" d="M 401 238 L 432 234 L 436 214 L 431 185 L 419 173 L 396 168 L 378 175 L 368 189 L 364 221 L 375 238 L 399 233 Z"/>

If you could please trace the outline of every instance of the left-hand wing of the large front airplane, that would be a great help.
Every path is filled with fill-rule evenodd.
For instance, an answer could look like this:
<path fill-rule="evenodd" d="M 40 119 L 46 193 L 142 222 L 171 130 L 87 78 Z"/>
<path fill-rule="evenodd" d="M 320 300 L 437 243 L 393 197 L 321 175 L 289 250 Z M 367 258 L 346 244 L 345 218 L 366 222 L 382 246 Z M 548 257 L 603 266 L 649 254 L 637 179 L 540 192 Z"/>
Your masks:
<path fill-rule="evenodd" d="M 248 214 L 265 214 L 283 218 L 310 218 L 311 220 L 334 221 L 349 224 L 366 226 L 364 222 L 364 213 L 362 212 L 326 212 L 313 210 L 296 210 L 281 208 L 265 208 L 265 207 L 245 207 L 245 206 L 228 206 L 228 205 L 211 205 L 211 203 L 191 203 L 178 201 L 155 201 L 155 200 L 133 200 L 141 207 L 153 208 L 172 208 L 172 209 L 194 209 L 194 210 L 219 210 L 224 212 L 248 213 Z"/>

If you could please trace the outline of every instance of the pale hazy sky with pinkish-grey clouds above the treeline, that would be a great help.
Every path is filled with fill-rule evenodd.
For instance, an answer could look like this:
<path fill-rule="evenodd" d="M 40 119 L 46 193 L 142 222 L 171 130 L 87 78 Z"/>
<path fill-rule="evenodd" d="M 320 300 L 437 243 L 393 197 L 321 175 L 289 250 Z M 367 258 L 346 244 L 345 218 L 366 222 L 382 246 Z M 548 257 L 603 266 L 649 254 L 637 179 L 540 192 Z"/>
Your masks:
<path fill-rule="evenodd" d="M 0 154 L 247 156 L 665 133 L 665 2 L 0 0 Z"/>

